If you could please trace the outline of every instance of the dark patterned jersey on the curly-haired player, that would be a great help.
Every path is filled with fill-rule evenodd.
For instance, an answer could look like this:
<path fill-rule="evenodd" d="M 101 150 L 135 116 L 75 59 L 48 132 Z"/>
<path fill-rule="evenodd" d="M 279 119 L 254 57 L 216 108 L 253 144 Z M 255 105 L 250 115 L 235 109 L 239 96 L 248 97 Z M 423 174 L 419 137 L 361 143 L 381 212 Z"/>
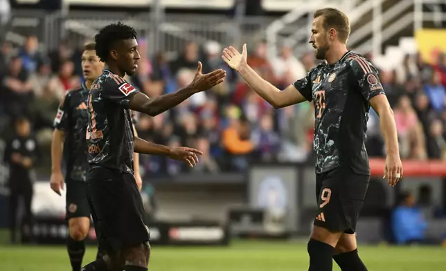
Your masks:
<path fill-rule="evenodd" d="M 87 99 L 90 167 L 134 173 L 134 120 L 127 106 L 136 93 L 136 88 L 109 70 L 104 70 L 91 85 Z"/>

